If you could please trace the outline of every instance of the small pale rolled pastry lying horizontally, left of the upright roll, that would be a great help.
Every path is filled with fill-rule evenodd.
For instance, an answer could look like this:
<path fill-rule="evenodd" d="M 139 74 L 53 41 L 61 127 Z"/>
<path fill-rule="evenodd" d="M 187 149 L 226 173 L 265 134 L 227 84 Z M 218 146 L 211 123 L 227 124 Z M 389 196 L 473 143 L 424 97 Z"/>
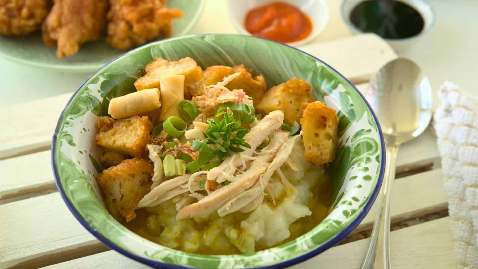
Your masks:
<path fill-rule="evenodd" d="M 109 101 L 108 114 L 115 119 L 125 119 L 145 114 L 161 107 L 158 88 L 146 89 L 115 97 Z"/>

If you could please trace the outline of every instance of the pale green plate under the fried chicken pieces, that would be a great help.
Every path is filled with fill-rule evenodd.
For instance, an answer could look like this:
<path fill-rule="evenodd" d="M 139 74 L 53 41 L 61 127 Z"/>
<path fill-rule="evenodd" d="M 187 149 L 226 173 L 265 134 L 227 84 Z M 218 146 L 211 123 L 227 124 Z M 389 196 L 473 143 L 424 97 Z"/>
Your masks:
<path fill-rule="evenodd" d="M 187 34 L 201 17 L 206 0 L 167 0 L 169 8 L 183 11 L 183 18 L 173 20 L 172 37 Z M 77 54 L 58 59 L 56 48 L 43 44 L 41 33 L 27 36 L 0 35 L 0 56 L 21 64 L 55 69 L 63 72 L 93 72 L 124 51 L 112 48 L 105 39 L 88 42 Z"/>

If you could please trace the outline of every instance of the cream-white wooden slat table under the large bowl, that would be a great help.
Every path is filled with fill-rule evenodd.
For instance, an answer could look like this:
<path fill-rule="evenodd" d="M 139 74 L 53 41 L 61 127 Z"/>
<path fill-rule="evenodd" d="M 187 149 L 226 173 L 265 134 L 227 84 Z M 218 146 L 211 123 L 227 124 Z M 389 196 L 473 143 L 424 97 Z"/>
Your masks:
<path fill-rule="evenodd" d="M 215 15 L 215 20 L 228 20 L 224 2 L 207 1 L 195 33 L 235 33 L 230 24 L 207 19 Z M 302 49 L 336 68 L 363 92 L 370 76 L 396 55 L 373 35 L 344 38 L 349 34 L 337 15 L 339 1 L 328 2 L 329 26 L 313 44 Z M 4 63 L 0 60 L 0 70 L 5 69 Z M 35 76 L 34 69 L 29 68 L 25 70 Z M 58 82 L 62 91 L 32 92 L 27 102 L 0 106 L 0 114 L 8 115 L 0 119 L 0 268 L 143 268 L 90 235 L 69 212 L 54 186 L 49 151 L 54 126 L 72 91 L 89 74 L 38 73 L 30 84 L 38 81 L 38 87 L 46 89 L 51 86 L 49 82 Z M 59 75 L 64 78 L 59 79 Z M 7 83 L 13 85 L 11 80 Z M 9 98 L 17 103 L 17 97 Z M 402 177 L 397 179 L 393 193 L 392 223 L 406 226 L 411 219 L 446 210 L 439 160 L 431 130 L 402 146 L 397 163 L 397 173 Z M 374 205 L 353 234 L 369 231 L 376 212 Z M 456 268 L 448 217 L 417 222 L 391 233 L 394 268 Z M 332 247 L 294 268 L 355 269 L 368 244 L 369 238 Z M 352 258 L 344 259 L 345 254 Z"/>

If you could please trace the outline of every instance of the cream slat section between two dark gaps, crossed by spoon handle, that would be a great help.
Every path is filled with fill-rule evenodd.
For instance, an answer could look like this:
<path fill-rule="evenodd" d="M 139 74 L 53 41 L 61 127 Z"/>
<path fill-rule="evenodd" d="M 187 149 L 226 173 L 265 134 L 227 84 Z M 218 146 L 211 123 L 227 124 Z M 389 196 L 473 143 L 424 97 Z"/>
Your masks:
<path fill-rule="evenodd" d="M 392 192 L 391 222 L 445 210 L 447 199 L 442 169 L 397 179 Z M 372 228 L 377 208 L 378 204 L 374 203 L 354 233 Z"/>

